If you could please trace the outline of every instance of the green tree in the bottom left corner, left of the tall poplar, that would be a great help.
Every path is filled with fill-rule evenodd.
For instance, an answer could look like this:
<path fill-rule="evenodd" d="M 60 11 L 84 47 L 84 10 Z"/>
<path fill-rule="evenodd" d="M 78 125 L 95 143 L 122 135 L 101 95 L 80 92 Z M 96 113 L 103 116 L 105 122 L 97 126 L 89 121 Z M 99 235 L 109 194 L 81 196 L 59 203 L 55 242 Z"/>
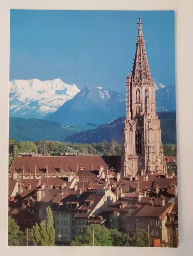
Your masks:
<path fill-rule="evenodd" d="M 8 217 L 8 246 L 20 246 L 20 236 L 22 234 L 16 222 Z"/>

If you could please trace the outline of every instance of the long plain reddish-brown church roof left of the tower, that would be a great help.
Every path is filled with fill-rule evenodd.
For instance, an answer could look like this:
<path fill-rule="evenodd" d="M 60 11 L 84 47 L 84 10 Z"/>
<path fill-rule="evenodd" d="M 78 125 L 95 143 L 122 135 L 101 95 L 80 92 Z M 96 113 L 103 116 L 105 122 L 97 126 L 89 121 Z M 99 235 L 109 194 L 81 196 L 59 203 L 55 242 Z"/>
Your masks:
<path fill-rule="evenodd" d="M 48 172 L 58 172 L 58 168 L 62 168 L 64 172 L 77 172 L 80 167 L 85 167 L 87 170 L 98 170 L 100 166 L 106 164 L 108 168 L 120 169 L 120 156 L 44 156 L 44 157 L 16 157 L 12 162 L 9 172 L 21 172 L 20 169 L 24 166 L 24 173 L 41 173 L 41 169 L 47 168 Z M 93 169 L 92 169 L 93 168 Z"/>

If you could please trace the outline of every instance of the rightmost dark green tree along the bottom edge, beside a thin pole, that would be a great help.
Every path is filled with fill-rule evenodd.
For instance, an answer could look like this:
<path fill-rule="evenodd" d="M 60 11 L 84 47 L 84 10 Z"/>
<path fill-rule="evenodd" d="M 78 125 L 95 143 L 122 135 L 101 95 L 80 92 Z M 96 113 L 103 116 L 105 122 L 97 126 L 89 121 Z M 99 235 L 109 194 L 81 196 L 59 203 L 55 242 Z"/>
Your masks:
<path fill-rule="evenodd" d="M 152 244 L 152 238 L 150 235 L 150 246 Z M 144 229 L 137 228 L 136 232 L 131 238 L 131 245 L 136 247 L 148 247 L 148 232 Z"/>

